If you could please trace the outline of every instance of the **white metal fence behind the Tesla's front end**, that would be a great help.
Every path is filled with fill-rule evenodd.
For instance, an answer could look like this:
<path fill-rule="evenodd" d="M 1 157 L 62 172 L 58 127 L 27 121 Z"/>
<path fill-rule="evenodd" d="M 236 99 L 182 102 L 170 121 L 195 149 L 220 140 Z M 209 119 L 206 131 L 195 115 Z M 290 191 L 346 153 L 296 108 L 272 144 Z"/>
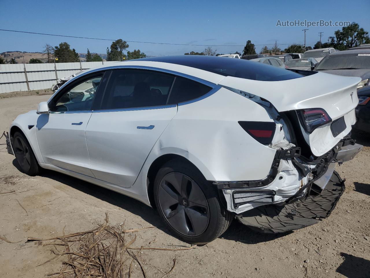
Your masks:
<path fill-rule="evenodd" d="M 0 93 L 50 89 L 59 78 L 114 62 L 0 64 Z"/>

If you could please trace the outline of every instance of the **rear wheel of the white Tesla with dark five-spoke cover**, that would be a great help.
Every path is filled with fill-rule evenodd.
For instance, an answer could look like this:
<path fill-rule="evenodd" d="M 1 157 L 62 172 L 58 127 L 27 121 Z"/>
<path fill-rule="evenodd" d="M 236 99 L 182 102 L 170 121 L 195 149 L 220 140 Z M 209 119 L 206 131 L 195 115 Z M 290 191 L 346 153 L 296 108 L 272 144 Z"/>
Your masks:
<path fill-rule="evenodd" d="M 189 243 L 213 241 L 232 221 L 232 214 L 221 205 L 217 188 L 182 159 L 171 160 L 159 169 L 154 200 L 166 224 Z"/>

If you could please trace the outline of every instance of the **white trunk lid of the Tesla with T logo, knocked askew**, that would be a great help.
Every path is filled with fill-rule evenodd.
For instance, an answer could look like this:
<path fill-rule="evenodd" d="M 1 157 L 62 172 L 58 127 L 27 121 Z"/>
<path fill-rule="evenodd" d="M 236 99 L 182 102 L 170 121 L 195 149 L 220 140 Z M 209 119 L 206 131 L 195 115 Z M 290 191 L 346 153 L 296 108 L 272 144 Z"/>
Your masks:
<path fill-rule="evenodd" d="M 300 124 L 300 130 L 314 156 L 321 156 L 332 149 L 356 121 L 354 108 L 359 77 L 344 77 L 317 72 L 309 76 L 282 81 L 256 81 L 227 76 L 218 84 L 257 95 L 268 100 L 277 111 L 322 108 L 333 122 L 344 118 L 346 128 L 333 135 L 331 124 L 320 126 L 311 134 Z"/>

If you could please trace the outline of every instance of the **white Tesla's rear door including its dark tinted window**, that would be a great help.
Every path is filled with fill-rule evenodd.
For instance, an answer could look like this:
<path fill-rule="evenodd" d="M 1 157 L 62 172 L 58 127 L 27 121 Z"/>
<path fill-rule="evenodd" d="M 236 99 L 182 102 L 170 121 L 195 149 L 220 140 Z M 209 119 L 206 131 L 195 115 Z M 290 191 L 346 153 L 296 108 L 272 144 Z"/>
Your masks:
<path fill-rule="evenodd" d="M 86 128 L 90 169 L 97 179 L 129 187 L 177 112 L 167 105 L 175 76 L 151 70 L 112 70 L 100 110 Z"/>

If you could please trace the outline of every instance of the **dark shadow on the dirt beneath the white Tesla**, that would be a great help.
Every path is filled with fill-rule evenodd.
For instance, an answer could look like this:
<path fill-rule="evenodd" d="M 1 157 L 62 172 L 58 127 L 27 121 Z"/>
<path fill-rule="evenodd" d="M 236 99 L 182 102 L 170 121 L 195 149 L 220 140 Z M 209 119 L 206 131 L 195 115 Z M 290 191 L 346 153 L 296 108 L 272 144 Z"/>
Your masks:
<path fill-rule="evenodd" d="M 18 165 L 16 159 L 13 160 L 13 165 L 20 171 L 20 166 Z M 142 202 L 139 202 L 120 193 L 111 191 L 110 189 L 106 189 L 101 186 L 94 185 L 92 183 L 85 182 L 80 179 L 55 171 L 42 169 L 40 176 L 53 179 L 65 185 L 71 186 L 78 191 L 84 192 L 97 199 L 100 199 L 104 202 L 108 202 L 112 205 L 125 209 L 132 214 L 140 216 L 142 219 L 157 227 L 166 234 L 178 238 L 162 221 L 157 211 Z M 261 234 L 259 232 L 252 231 L 251 229 L 234 219 L 228 230 L 221 236 L 221 238 L 232 241 L 239 241 L 245 244 L 256 244 L 259 242 L 268 242 L 286 234 L 289 233 Z"/>

